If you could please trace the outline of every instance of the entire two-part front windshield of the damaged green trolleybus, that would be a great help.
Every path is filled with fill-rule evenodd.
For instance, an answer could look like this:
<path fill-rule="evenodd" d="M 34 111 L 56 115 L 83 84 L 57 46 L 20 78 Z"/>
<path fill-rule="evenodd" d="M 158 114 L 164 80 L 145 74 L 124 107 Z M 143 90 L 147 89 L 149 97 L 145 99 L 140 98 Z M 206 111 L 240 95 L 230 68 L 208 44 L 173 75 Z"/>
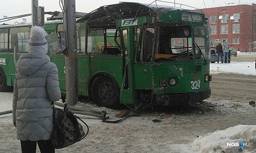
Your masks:
<path fill-rule="evenodd" d="M 206 26 L 195 26 L 194 35 L 191 25 L 159 25 L 157 32 L 156 61 L 192 61 L 209 57 L 209 28 Z"/>

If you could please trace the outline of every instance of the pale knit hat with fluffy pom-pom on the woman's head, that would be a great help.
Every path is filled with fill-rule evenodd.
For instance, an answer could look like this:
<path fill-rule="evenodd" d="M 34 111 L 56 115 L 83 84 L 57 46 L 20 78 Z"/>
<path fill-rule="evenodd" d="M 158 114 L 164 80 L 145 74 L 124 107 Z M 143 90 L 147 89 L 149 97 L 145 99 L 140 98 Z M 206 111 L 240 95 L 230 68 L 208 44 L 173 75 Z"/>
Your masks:
<path fill-rule="evenodd" d="M 46 31 L 38 26 L 31 28 L 30 36 L 28 40 L 28 52 L 29 53 L 47 53 L 47 41 L 45 36 L 47 35 Z"/>

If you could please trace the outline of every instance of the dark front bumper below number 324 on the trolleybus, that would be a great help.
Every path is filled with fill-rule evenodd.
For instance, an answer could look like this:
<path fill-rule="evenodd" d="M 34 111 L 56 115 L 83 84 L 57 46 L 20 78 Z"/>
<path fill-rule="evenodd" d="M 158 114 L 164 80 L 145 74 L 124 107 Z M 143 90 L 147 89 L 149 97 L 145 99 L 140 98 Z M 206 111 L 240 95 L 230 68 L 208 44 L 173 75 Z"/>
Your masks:
<path fill-rule="evenodd" d="M 187 105 L 196 102 L 203 101 L 209 98 L 211 95 L 211 89 L 202 90 L 195 93 L 187 94 L 157 94 L 155 97 L 155 103 L 158 105 Z"/>

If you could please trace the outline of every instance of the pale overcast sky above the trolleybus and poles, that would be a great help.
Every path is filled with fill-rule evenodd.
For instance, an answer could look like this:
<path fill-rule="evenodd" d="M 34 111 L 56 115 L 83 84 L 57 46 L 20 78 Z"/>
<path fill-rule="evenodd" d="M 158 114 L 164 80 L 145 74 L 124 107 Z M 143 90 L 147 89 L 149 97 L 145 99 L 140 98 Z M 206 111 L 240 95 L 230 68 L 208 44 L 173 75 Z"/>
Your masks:
<path fill-rule="evenodd" d="M 154 0 L 75 0 L 76 2 L 76 11 L 89 13 L 92 10 L 97 9 L 100 6 L 119 3 L 120 1 L 125 2 L 139 2 L 139 3 L 152 3 Z M 182 3 L 192 7 L 210 7 L 210 6 L 220 6 L 227 3 L 253 3 L 256 0 L 161 0 L 168 1 L 172 3 L 164 3 L 165 5 L 174 6 L 175 3 Z M 31 13 L 31 2 L 32 0 L 0 0 L 0 19 L 4 18 L 3 16 L 12 17 L 21 14 L 30 14 Z M 61 11 L 59 0 L 38 0 L 39 6 L 45 8 L 45 11 Z M 158 1 L 156 4 L 163 4 Z M 175 5 L 180 7 L 179 4 Z M 182 6 L 185 7 L 185 6 Z M 186 7 L 185 7 L 186 8 Z M 31 16 L 26 17 L 27 22 L 31 22 Z M 17 20 L 16 20 L 17 21 Z M 19 19 L 18 22 L 21 22 L 22 19 Z M 2 24 L 3 22 L 0 22 Z M 8 21 L 4 23 L 14 23 L 14 21 Z"/>

